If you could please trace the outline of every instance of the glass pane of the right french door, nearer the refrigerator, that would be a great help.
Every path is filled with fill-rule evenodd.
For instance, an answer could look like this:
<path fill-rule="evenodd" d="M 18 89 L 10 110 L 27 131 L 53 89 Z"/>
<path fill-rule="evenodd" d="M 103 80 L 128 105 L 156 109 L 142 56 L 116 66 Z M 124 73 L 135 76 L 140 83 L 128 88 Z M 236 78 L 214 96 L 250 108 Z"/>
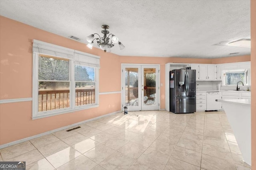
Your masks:
<path fill-rule="evenodd" d="M 156 68 L 144 68 L 144 106 L 156 105 Z"/>

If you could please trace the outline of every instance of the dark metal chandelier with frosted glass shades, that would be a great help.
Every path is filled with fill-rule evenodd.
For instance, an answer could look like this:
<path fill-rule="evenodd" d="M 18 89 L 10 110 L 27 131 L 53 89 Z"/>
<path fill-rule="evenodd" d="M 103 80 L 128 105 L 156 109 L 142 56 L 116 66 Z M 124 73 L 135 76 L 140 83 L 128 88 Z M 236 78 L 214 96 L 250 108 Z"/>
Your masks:
<path fill-rule="evenodd" d="M 86 40 L 88 41 L 88 44 L 86 45 L 88 48 L 92 49 L 93 46 L 93 41 L 96 39 L 97 45 L 100 47 L 100 49 L 104 50 L 106 52 L 110 52 L 110 48 L 114 47 L 116 43 L 118 43 L 120 50 L 124 49 L 124 45 L 118 41 L 118 37 L 114 34 L 110 34 L 111 36 L 111 41 L 108 35 L 109 31 L 107 30 L 109 28 L 108 25 L 102 25 L 101 26 L 104 30 L 101 31 L 101 33 L 104 34 L 103 37 L 100 37 L 97 33 L 91 34 L 88 37 L 86 37 Z M 94 38 L 94 35 L 97 34 L 100 38 Z M 107 37 L 108 35 L 108 37 Z"/>

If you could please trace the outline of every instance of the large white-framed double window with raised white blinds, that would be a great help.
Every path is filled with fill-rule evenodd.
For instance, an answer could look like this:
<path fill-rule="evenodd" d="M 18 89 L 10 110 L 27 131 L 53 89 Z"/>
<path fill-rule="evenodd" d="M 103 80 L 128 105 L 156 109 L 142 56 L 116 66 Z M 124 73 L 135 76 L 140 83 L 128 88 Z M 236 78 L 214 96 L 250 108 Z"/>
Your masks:
<path fill-rule="evenodd" d="M 98 107 L 100 57 L 33 41 L 32 119 Z"/>

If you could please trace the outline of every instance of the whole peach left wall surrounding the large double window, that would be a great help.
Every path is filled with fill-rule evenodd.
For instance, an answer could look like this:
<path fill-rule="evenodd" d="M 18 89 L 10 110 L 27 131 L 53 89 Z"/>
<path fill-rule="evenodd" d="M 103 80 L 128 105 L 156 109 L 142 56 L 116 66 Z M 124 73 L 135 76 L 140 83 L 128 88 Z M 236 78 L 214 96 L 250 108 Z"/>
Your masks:
<path fill-rule="evenodd" d="M 120 57 L 0 16 L 0 100 L 32 97 L 32 40 L 91 53 L 100 59 L 100 92 L 118 92 Z M 0 104 L 0 145 L 120 110 L 121 94 L 100 94 L 100 106 L 32 120 L 32 102 Z M 110 105 L 110 107 L 109 107 Z"/>

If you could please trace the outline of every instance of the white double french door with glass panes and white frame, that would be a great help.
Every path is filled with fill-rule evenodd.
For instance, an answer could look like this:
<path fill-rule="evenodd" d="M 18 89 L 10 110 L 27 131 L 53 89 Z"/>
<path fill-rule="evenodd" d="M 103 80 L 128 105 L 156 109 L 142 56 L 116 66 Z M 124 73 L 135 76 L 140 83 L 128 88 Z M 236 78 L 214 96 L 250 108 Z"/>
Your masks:
<path fill-rule="evenodd" d="M 122 107 L 128 111 L 160 109 L 159 65 L 122 64 Z"/>

